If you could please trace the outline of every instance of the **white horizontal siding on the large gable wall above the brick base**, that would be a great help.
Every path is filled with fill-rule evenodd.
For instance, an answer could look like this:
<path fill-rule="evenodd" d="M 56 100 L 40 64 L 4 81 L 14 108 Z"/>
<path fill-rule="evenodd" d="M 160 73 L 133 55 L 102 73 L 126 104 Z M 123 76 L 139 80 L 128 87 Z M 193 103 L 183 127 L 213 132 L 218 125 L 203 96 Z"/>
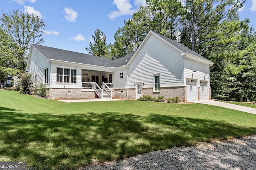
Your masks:
<path fill-rule="evenodd" d="M 151 35 L 129 67 L 129 88 L 143 82 L 144 88 L 154 86 L 153 74 L 160 73 L 160 88 L 183 85 L 184 57 L 159 37 Z"/>

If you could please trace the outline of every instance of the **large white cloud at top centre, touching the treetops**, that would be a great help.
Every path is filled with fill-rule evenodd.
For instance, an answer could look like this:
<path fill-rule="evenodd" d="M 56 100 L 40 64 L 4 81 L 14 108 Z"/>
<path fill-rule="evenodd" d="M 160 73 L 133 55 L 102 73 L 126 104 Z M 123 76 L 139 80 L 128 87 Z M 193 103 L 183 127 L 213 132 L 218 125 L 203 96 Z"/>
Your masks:
<path fill-rule="evenodd" d="M 142 0 L 136 0 L 136 5 L 141 4 Z M 108 14 L 108 18 L 110 20 L 114 20 L 123 15 L 132 15 L 136 12 L 136 9 L 132 9 L 132 5 L 130 4 L 130 0 L 114 0 L 113 4 L 116 5 L 118 10 L 111 11 Z"/>

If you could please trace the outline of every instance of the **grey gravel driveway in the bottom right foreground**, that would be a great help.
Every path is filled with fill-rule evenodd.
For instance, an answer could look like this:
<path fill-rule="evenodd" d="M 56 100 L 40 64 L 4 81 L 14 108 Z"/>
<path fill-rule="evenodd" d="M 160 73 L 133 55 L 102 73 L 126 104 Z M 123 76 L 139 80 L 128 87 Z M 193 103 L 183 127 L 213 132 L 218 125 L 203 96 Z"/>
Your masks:
<path fill-rule="evenodd" d="M 256 135 L 173 147 L 80 170 L 256 170 Z"/>

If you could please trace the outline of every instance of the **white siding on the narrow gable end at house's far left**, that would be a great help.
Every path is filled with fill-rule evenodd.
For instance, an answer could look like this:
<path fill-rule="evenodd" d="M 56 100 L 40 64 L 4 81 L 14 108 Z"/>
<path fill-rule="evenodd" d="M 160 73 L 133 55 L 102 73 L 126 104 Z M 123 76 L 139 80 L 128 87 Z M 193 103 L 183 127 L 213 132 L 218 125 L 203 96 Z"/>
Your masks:
<path fill-rule="evenodd" d="M 29 63 L 28 63 L 29 64 Z M 48 79 L 50 79 L 50 62 L 42 56 L 36 49 L 32 48 L 31 59 L 28 68 L 28 73 L 32 73 L 32 80 L 34 82 L 34 76 L 37 74 L 37 82 L 34 84 L 43 84 L 44 82 L 44 69 L 48 68 Z M 50 80 L 48 81 L 50 84 Z"/>

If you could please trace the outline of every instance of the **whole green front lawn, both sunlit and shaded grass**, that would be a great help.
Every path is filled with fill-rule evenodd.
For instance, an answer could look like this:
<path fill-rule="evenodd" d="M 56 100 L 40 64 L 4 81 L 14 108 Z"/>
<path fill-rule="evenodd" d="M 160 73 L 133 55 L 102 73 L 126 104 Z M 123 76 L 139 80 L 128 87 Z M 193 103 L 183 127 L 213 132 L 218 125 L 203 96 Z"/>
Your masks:
<path fill-rule="evenodd" d="M 256 134 L 256 115 L 203 104 L 65 103 L 0 90 L 0 161 L 73 169 Z"/>

